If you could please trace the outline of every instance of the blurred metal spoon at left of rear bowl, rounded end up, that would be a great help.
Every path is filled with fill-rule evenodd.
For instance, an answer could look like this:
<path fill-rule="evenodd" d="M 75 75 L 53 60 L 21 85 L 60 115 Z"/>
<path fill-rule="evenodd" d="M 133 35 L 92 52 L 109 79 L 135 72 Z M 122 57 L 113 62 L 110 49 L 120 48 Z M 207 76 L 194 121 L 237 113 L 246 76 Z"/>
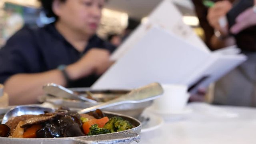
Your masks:
<path fill-rule="evenodd" d="M 56 96 L 58 98 L 68 98 L 68 99 L 72 99 L 72 100 L 83 100 L 83 101 L 91 102 L 94 104 L 97 103 L 96 100 L 92 100 L 92 99 L 86 98 L 84 96 L 75 94 L 72 90 L 69 90 L 63 86 L 60 86 L 60 85 L 54 84 L 54 83 L 46 84 L 45 86 L 43 86 L 43 90 L 44 90 L 44 92 L 46 92 L 46 94 L 50 94 L 50 95 Z"/>

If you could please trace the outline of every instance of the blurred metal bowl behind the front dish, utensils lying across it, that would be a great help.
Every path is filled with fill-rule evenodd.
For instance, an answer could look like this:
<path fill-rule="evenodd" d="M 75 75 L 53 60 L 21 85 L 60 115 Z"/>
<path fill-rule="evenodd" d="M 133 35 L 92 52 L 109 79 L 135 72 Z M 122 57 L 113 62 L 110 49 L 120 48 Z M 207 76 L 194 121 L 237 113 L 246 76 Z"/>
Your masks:
<path fill-rule="evenodd" d="M 90 90 L 89 88 L 70 88 L 73 92 L 76 92 L 78 94 L 85 94 L 86 91 L 90 91 L 93 94 L 93 97 L 96 98 L 96 100 L 111 100 L 114 98 L 117 98 L 118 96 L 121 96 L 122 94 L 126 94 L 130 92 L 130 90 Z M 90 102 L 82 102 L 79 100 L 70 100 L 70 99 L 63 99 L 63 98 L 56 98 L 53 96 L 42 96 L 39 99 L 40 102 L 50 102 L 56 106 L 66 106 L 69 108 L 88 108 L 95 105 L 98 105 L 102 102 L 97 102 L 96 104 L 90 103 Z M 140 103 L 127 103 L 127 104 L 121 104 L 117 106 L 112 106 L 109 108 L 105 108 L 103 110 L 110 111 L 110 112 L 116 112 L 128 116 L 132 116 L 134 118 L 139 118 L 140 114 L 142 114 L 143 110 L 150 106 L 152 104 L 153 100 L 149 100 L 146 102 L 140 102 Z"/>

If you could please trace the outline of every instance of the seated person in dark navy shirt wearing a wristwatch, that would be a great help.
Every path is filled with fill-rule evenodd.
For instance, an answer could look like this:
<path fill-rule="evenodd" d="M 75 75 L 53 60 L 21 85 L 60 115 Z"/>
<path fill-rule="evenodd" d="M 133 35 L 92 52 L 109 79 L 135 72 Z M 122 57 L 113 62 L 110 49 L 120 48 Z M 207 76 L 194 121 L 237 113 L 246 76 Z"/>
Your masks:
<path fill-rule="evenodd" d="M 56 21 L 19 30 L 0 50 L 0 83 L 10 104 L 29 104 L 54 82 L 89 87 L 111 65 L 114 46 L 96 35 L 105 0 L 40 0 Z"/>

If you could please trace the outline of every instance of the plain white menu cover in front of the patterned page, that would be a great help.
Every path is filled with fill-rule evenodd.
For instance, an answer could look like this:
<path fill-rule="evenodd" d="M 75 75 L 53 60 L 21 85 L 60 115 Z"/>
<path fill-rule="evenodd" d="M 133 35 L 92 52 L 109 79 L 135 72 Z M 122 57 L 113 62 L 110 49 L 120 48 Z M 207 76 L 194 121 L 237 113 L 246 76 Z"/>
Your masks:
<path fill-rule="evenodd" d="M 190 92 L 218 80 L 246 60 L 236 48 L 202 50 L 152 25 L 93 85 L 93 89 L 132 89 L 152 82 L 186 84 Z"/>

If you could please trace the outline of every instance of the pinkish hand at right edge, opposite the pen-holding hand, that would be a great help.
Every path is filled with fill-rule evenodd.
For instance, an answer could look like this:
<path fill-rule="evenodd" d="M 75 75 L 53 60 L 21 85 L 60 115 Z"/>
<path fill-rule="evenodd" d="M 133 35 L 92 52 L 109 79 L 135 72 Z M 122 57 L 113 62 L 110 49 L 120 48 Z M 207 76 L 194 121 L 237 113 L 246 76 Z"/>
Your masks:
<path fill-rule="evenodd" d="M 238 15 L 236 18 L 236 24 L 230 28 L 230 32 L 233 34 L 239 33 L 250 26 L 256 25 L 256 8 L 249 8 Z"/>

